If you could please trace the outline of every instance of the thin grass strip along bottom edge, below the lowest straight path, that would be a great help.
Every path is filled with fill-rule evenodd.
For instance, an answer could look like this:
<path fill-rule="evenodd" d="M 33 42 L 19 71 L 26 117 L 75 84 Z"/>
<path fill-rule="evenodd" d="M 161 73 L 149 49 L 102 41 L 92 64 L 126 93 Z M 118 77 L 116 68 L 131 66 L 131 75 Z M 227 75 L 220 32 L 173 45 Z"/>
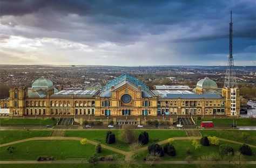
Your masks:
<path fill-rule="evenodd" d="M 1 168 L 14 168 L 14 167 L 19 167 L 19 168 L 119 168 L 122 167 L 118 164 L 106 164 L 106 163 L 99 163 L 95 166 L 92 166 L 91 164 L 2 164 Z M 149 164 L 136 164 L 136 165 L 131 165 L 131 168 L 150 168 L 150 167 L 156 167 L 156 168 L 170 168 L 170 167 L 179 167 L 179 168 L 197 168 L 200 167 L 199 165 L 196 164 L 154 164 L 153 166 L 150 166 Z M 232 165 L 221 165 L 223 168 L 229 168 L 233 167 Z M 255 165 L 247 165 L 245 168 L 254 168 Z"/>

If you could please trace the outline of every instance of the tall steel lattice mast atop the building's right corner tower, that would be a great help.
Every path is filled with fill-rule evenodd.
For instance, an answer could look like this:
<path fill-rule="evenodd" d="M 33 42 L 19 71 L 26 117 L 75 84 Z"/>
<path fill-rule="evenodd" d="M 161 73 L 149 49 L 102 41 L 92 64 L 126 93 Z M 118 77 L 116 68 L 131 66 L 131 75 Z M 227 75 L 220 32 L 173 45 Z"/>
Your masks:
<path fill-rule="evenodd" d="M 233 60 L 233 23 L 232 23 L 232 11 L 230 12 L 230 55 L 227 62 L 227 70 L 225 76 L 224 87 L 227 89 L 237 87 L 237 79 L 234 72 L 234 60 Z"/>

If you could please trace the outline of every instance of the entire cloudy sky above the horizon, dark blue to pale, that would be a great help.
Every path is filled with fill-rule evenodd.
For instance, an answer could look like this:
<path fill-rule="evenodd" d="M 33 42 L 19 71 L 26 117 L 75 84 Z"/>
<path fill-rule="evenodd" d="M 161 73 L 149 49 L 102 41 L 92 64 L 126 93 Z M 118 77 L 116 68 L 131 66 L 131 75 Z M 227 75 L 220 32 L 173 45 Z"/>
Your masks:
<path fill-rule="evenodd" d="M 0 0 L 0 64 L 256 65 L 256 1 Z"/>

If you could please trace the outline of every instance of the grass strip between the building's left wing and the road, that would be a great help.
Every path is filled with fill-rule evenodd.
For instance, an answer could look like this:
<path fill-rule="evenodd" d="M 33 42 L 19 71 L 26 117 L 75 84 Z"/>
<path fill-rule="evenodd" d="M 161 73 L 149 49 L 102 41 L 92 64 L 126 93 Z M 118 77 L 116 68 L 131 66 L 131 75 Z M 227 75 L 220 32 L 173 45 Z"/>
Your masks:
<path fill-rule="evenodd" d="M 3 125 L 55 125 L 56 120 L 51 118 L 0 118 L 0 124 Z"/>

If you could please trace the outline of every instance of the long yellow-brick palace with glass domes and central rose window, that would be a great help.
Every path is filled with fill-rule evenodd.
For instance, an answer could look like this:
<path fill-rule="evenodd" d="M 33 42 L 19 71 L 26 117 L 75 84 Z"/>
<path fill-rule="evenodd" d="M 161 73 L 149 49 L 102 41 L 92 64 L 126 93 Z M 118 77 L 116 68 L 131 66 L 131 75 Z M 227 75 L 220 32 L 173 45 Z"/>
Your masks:
<path fill-rule="evenodd" d="M 218 89 L 209 78 L 200 80 L 193 90 L 179 87 L 150 90 L 125 73 L 98 90 L 57 90 L 52 81 L 42 77 L 31 88 L 11 88 L 9 99 L 1 100 L 1 108 L 9 108 L 10 116 L 240 115 L 239 89 Z"/>

